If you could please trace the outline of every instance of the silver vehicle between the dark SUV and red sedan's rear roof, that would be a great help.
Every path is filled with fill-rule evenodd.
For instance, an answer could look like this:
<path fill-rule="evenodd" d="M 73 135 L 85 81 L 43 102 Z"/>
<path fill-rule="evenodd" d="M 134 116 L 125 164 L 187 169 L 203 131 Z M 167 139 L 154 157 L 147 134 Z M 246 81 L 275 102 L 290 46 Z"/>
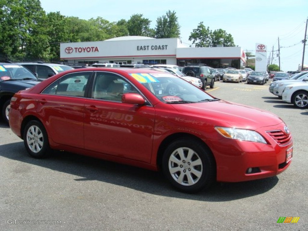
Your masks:
<path fill-rule="evenodd" d="M 73 67 L 59 63 L 44 63 L 41 61 L 22 62 L 22 63 L 18 62 L 18 64 L 29 69 L 34 75 L 36 75 L 36 77 L 38 77 L 41 80 L 47 79 L 63 71 L 74 69 Z"/>

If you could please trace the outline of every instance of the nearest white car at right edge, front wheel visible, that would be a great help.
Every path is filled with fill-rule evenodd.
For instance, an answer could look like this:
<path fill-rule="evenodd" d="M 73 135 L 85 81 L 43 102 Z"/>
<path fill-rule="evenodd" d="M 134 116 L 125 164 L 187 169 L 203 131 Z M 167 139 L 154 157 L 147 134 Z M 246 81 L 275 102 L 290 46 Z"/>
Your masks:
<path fill-rule="evenodd" d="M 308 108 L 308 83 L 294 83 L 285 87 L 282 100 L 298 108 Z"/>

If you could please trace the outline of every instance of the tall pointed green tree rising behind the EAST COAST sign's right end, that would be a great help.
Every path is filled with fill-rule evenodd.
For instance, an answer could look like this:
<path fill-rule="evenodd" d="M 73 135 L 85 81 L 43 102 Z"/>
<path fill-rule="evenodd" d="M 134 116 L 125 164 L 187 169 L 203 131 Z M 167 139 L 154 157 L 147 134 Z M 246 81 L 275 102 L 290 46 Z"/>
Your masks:
<path fill-rule="evenodd" d="M 168 10 L 166 15 L 157 18 L 155 38 L 180 38 L 180 25 L 174 11 Z"/>

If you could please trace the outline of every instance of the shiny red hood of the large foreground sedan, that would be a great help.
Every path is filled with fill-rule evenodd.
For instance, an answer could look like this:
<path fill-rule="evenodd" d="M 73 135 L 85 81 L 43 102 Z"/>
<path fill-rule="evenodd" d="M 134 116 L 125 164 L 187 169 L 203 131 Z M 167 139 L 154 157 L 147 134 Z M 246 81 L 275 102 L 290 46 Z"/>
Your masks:
<path fill-rule="evenodd" d="M 212 121 L 214 126 L 229 124 L 229 127 L 256 130 L 282 123 L 277 115 L 268 111 L 224 100 L 171 105 L 181 114 L 197 115 L 199 119 L 201 117 L 207 122 Z"/>

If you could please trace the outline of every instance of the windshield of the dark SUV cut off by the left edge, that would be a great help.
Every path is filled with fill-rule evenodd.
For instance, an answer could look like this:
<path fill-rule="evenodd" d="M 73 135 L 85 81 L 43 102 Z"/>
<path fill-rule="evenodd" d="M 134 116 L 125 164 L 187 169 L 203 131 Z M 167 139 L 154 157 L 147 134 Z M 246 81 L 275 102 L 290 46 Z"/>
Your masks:
<path fill-rule="evenodd" d="M 0 65 L 0 79 L 1 80 L 21 80 L 21 79 L 35 79 L 36 76 L 32 74 L 27 68 L 20 65 Z"/>

